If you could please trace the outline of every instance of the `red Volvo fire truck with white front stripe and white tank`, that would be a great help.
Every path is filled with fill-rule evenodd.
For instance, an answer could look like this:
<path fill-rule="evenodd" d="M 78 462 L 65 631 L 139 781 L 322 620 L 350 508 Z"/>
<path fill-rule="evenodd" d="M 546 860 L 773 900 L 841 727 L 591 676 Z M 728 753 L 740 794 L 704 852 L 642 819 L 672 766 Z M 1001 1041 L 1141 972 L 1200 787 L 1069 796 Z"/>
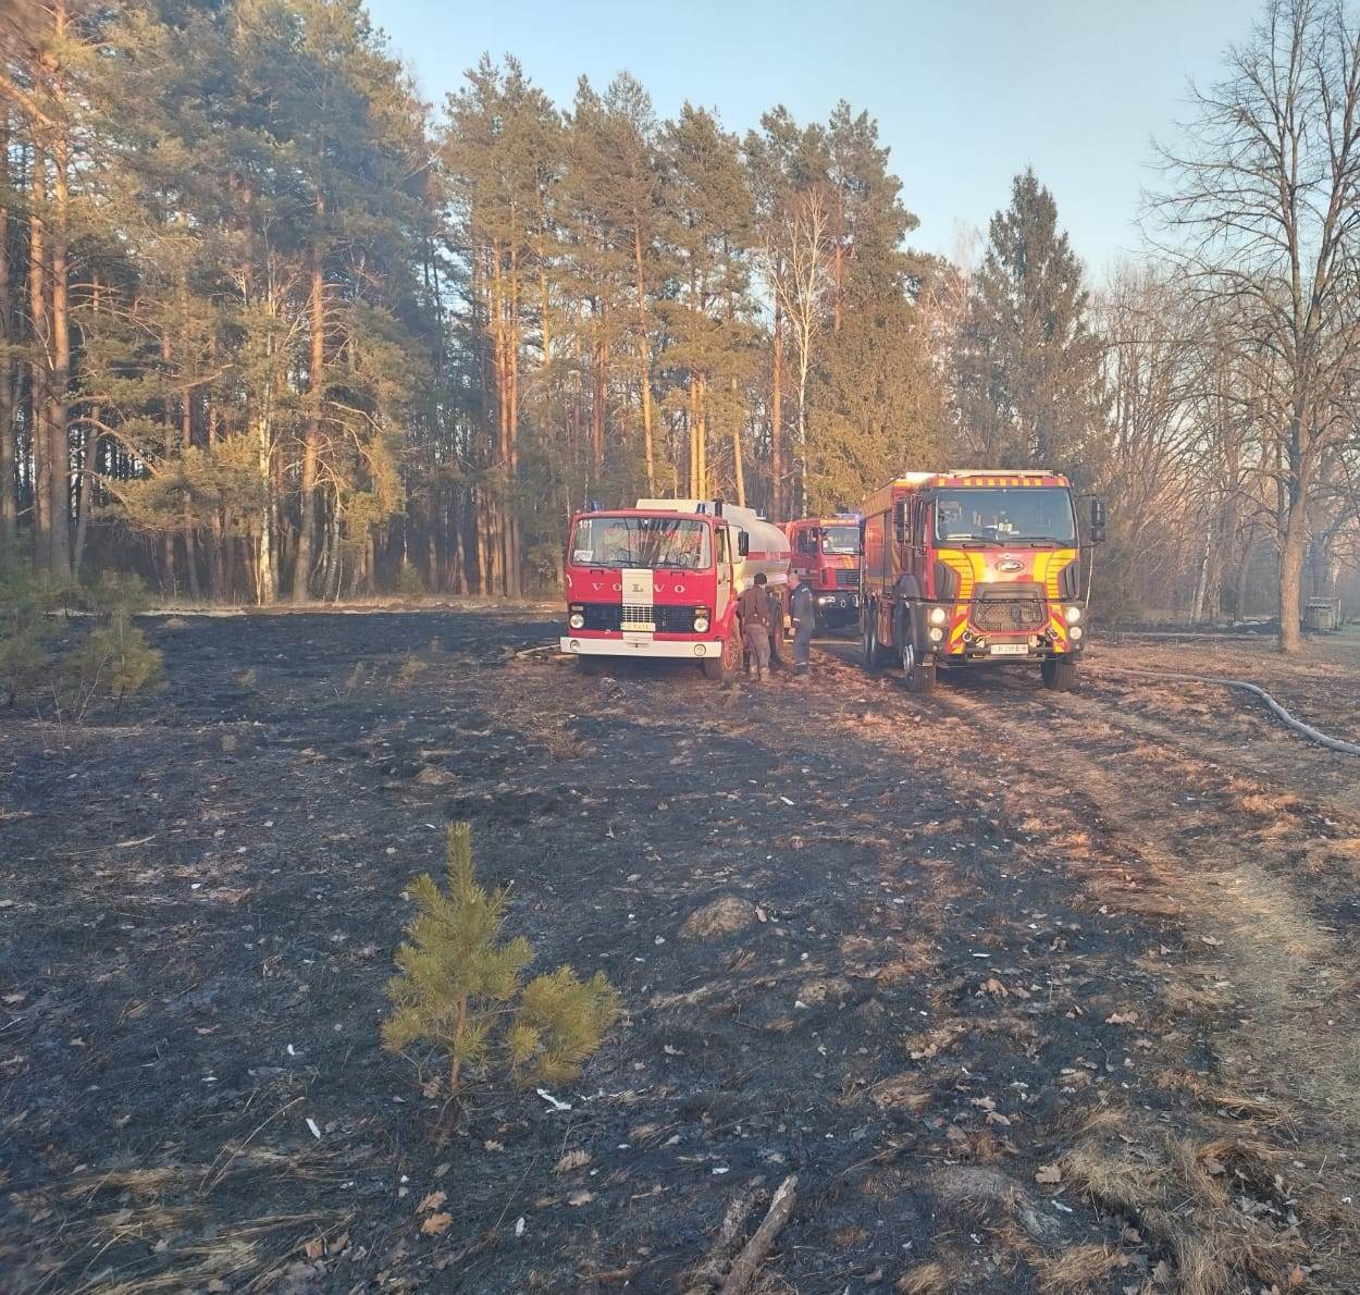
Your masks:
<path fill-rule="evenodd" d="M 562 650 L 586 673 L 601 657 L 668 657 L 728 680 L 743 664 L 737 600 L 759 573 L 787 611 L 787 539 L 721 499 L 639 499 L 632 509 L 577 513 L 563 570 Z"/>

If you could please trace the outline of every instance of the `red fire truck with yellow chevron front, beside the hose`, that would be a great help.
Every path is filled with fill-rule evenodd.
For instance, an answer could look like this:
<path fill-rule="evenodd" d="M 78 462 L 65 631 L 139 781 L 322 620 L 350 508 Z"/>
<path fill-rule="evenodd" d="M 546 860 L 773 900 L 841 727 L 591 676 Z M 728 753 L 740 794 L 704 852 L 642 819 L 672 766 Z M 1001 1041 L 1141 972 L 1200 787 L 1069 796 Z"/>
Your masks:
<path fill-rule="evenodd" d="M 908 472 L 864 505 L 860 630 L 869 668 L 900 661 L 929 692 L 936 667 L 1032 661 L 1076 682 L 1085 590 L 1072 486 L 1046 471 Z M 1085 543 L 1104 539 L 1091 501 Z"/>

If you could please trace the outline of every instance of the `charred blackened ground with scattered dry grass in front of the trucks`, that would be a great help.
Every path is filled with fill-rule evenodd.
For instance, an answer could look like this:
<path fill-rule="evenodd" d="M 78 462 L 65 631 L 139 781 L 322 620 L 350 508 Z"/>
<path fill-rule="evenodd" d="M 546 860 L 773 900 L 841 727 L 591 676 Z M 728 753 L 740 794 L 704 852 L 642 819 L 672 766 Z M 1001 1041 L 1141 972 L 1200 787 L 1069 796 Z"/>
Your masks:
<path fill-rule="evenodd" d="M 796 1171 L 770 1290 L 1360 1290 L 1357 762 L 1099 672 L 1360 740 L 1355 638 L 918 701 L 846 645 L 724 692 L 551 635 L 192 619 L 120 726 L 0 720 L 0 1285 L 685 1290 Z M 375 1045 L 453 818 L 627 1019 L 571 1111 L 488 1088 L 439 1144 Z M 719 895 L 763 920 L 683 939 Z"/>

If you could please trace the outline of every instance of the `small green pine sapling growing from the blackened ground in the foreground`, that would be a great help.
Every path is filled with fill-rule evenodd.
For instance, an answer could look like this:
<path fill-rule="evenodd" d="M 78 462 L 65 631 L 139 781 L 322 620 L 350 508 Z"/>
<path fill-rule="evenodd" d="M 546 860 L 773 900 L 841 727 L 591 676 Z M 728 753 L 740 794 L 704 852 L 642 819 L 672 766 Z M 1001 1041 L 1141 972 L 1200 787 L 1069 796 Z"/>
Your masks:
<path fill-rule="evenodd" d="M 613 986 L 602 971 L 582 981 L 571 967 L 524 983 L 533 948 L 524 937 L 500 943 L 509 891 L 477 883 L 468 823 L 449 827 L 445 876 L 447 888 L 428 873 L 411 886 L 416 915 L 388 982 L 384 1047 L 434 1045 L 454 1098 L 468 1076 L 498 1065 L 521 1086 L 574 1079 L 619 1015 Z"/>

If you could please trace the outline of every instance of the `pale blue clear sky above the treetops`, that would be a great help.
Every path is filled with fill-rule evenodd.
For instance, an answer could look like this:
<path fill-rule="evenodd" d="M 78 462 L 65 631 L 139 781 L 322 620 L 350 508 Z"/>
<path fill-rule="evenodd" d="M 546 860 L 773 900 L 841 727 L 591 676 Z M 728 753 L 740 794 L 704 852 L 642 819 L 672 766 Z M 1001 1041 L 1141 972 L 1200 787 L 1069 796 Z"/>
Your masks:
<path fill-rule="evenodd" d="M 370 0 L 374 22 L 439 103 L 490 50 L 515 54 L 560 105 L 585 72 L 619 69 L 660 116 L 688 98 L 738 133 L 785 103 L 824 120 L 836 99 L 879 120 L 913 242 L 951 253 L 986 231 L 1010 177 L 1032 165 L 1099 278 L 1136 250 L 1151 137 L 1185 116 L 1186 82 L 1212 82 L 1259 0 Z"/>

